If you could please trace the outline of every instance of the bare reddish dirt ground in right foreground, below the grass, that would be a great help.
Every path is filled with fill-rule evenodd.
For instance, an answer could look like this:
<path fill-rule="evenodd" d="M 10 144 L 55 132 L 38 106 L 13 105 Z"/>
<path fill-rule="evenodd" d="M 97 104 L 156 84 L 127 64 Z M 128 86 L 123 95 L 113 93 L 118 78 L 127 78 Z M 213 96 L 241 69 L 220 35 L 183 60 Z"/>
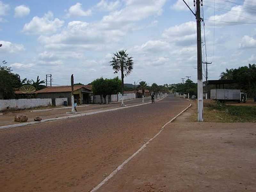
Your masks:
<path fill-rule="evenodd" d="M 171 123 L 100 192 L 256 191 L 252 123 Z"/>

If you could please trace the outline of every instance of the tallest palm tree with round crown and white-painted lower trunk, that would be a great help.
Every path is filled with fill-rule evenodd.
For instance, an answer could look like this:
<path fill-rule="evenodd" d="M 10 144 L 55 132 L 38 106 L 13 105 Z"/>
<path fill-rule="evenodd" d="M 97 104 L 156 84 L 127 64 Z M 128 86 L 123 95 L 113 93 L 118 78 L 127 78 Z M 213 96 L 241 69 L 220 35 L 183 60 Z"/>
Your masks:
<path fill-rule="evenodd" d="M 132 73 L 133 60 L 132 57 L 128 56 L 126 50 L 121 50 L 113 54 L 112 61 L 110 61 L 110 66 L 113 67 L 114 73 L 121 71 L 122 79 L 122 105 L 124 106 L 124 76 L 128 76 Z"/>

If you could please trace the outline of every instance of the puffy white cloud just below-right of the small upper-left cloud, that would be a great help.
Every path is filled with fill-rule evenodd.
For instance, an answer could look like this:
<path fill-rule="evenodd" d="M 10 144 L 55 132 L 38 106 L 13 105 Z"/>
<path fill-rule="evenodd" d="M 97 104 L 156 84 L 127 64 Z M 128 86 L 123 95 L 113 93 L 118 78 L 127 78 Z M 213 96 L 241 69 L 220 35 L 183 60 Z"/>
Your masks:
<path fill-rule="evenodd" d="M 23 32 L 27 34 L 52 34 L 55 33 L 64 24 L 63 20 L 53 18 L 52 12 L 47 12 L 44 17 L 33 17 L 33 19 L 26 23 L 23 27 Z"/>

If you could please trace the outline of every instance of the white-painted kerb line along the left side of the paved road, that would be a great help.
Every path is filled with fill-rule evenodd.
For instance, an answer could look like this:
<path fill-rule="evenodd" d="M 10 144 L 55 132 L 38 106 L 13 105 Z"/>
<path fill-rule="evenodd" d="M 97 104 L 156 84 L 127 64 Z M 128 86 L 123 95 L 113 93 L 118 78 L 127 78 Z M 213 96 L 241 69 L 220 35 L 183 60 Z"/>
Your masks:
<path fill-rule="evenodd" d="M 167 96 L 168 95 L 166 95 L 165 97 L 167 97 Z M 157 101 L 161 101 L 165 97 L 163 97 L 162 99 L 157 100 Z M 148 103 L 151 103 L 151 101 L 149 101 Z M 32 122 L 27 122 L 27 123 L 5 125 L 5 126 L 1 126 L 0 129 L 11 128 L 11 127 L 20 127 L 20 126 L 25 126 L 25 125 L 37 124 L 37 123 L 44 123 L 44 122 L 47 122 L 47 121 L 57 121 L 57 120 L 61 120 L 61 119 L 69 119 L 69 118 L 93 115 L 93 114 L 104 113 L 104 112 L 108 112 L 108 111 L 116 111 L 116 110 L 119 110 L 119 109 L 125 109 L 125 108 L 131 108 L 131 107 L 137 107 L 137 106 L 141 106 L 141 105 L 146 105 L 148 103 L 141 103 L 141 104 L 138 104 L 138 105 L 131 105 L 131 106 L 127 106 L 127 107 L 119 107 L 119 108 L 106 109 L 106 110 L 94 111 L 94 112 L 88 112 L 88 113 L 80 113 L 80 114 L 72 115 L 72 116 L 64 116 L 64 117 L 56 117 L 56 118 L 50 118 L 50 119 L 43 119 L 42 121 L 32 121 Z"/>

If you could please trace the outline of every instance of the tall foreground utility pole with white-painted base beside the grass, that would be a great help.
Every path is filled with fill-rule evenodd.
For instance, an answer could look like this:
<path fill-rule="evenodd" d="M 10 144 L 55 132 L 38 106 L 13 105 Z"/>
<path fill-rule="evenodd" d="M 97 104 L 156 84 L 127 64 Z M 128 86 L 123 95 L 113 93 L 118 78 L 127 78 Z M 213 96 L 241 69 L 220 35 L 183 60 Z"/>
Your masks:
<path fill-rule="evenodd" d="M 196 33 L 197 33 L 197 117 L 198 121 L 204 121 L 203 118 L 203 70 L 202 70 L 202 38 L 201 38 L 201 16 L 200 0 L 196 0 Z"/>

